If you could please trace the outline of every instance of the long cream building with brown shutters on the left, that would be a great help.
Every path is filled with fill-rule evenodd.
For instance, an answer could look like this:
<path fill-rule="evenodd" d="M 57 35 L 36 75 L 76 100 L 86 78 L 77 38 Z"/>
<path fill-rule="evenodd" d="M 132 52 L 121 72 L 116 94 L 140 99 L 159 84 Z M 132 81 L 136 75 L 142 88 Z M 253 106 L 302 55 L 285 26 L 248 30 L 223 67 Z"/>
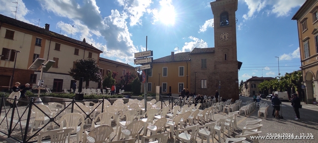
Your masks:
<path fill-rule="evenodd" d="M 43 73 L 42 79 L 45 86 L 56 92 L 71 88 L 74 79 L 68 71 L 73 68 L 74 61 L 86 58 L 99 61 L 102 51 L 85 40 L 75 40 L 49 28 L 49 24 L 41 28 L 0 14 L 1 91 L 17 81 L 36 86 L 40 71 L 28 70 L 36 58 L 55 61 L 52 68 Z M 14 79 L 10 83 L 13 69 Z M 91 82 L 90 86 L 97 87 L 97 83 Z"/>

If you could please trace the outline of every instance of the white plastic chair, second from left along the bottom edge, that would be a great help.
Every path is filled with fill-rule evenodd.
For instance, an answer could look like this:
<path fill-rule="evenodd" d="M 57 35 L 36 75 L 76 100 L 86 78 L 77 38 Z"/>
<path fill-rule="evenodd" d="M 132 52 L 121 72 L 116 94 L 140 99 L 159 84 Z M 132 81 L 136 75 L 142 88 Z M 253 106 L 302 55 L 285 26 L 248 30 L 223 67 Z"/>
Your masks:
<path fill-rule="evenodd" d="M 105 141 L 107 137 L 110 137 L 110 134 L 114 132 L 113 128 L 111 126 L 98 126 L 94 129 L 92 129 L 89 133 L 85 131 L 83 143 L 95 143 L 100 141 Z M 110 140 L 110 139 L 109 139 Z"/>

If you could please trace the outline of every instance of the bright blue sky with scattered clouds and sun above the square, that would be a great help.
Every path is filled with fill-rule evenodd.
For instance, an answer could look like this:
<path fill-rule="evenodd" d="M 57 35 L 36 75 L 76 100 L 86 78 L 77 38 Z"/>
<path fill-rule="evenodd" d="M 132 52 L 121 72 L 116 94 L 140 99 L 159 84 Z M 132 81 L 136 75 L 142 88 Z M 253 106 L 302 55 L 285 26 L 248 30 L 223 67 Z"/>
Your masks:
<path fill-rule="evenodd" d="M 132 66 L 134 53 L 214 47 L 211 0 L 0 0 L 0 14 L 93 44 L 103 58 Z M 215 0 L 213 0 L 215 1 Z M 236 12 L 239 80 L 300 70 L 297 22 L 305 0 L 239 0 Z M 74 26 L 73 26 L 74 25 Z M 72 27 L 73 26 L 73 27 Z"/>

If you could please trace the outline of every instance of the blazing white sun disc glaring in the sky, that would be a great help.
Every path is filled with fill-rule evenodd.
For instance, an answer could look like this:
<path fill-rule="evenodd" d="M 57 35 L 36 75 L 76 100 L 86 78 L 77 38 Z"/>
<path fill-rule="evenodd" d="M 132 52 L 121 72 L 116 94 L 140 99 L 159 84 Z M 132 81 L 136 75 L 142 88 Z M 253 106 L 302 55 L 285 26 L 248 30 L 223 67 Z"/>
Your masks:
<path fill-rule="evenodd" d="M 174 7 L 173 5 L 164 4 L 161 6 L 159 11 L 159 19 L 162 23 L 166 25 L 174 24 Z"/>

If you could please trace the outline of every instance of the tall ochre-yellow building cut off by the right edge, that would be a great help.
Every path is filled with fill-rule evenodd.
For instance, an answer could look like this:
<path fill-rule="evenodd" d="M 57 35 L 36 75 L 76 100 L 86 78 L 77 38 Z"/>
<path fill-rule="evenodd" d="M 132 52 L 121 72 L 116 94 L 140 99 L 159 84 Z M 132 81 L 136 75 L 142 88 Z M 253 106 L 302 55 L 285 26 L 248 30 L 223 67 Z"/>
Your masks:
<path fill-rule="evenodd" d="M 318 96 L 318 0 L 306 0 L 292 20 L 297 20 L 305 97 L 312 103 Z"/>

